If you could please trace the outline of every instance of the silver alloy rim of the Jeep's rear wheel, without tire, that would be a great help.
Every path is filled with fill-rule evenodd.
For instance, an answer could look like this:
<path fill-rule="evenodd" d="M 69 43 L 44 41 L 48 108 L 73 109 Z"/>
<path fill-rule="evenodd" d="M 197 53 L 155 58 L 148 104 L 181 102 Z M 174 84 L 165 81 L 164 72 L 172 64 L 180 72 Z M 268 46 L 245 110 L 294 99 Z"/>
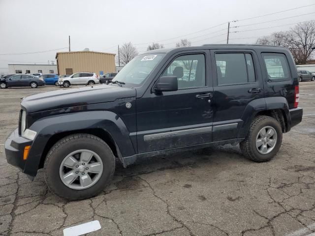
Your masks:
<path fill-rule="evenodd" d="M 270 153 L 277 144 L 277 132 L 274 127 L 263 127 L 256 136 L 256 149 L 260 154 Z"/>

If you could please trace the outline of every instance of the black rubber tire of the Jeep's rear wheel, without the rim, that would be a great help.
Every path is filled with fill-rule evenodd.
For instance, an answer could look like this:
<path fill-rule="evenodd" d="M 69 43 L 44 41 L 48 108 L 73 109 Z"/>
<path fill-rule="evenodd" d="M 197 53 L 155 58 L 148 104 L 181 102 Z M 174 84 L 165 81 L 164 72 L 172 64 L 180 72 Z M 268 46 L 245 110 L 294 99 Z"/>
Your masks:
<path fill-rule="evenodd" d="M 265 126 L 271 126 L 276 130 L 277 133 L 277 142 L 268 154 L 261 154 L 258 152 L 256 148 L 256 137 L 258 132 Z M 279 151 L 282 144 L 282 127 L 280 123 L 272 117 L 268 116 L 258 116 L 253 119 L 252 124 L 250 126 L 250 130 L 244 141 L 240 143 L 240 148 L 245 157 L 256 161 L 263 162 L 271 160 Z"/>

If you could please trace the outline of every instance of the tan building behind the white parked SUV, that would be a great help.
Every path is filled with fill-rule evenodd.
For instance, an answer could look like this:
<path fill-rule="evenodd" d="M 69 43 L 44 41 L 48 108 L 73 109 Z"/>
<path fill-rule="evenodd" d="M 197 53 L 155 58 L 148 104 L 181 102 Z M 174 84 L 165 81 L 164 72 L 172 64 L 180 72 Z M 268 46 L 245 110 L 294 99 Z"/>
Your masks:
<path fill-rule="evenodd" d="M 116 72 L 115 54 L 93 51 L 60 52 L 56 54 L 58 74 L 94 72 L 97 75 Z"/>

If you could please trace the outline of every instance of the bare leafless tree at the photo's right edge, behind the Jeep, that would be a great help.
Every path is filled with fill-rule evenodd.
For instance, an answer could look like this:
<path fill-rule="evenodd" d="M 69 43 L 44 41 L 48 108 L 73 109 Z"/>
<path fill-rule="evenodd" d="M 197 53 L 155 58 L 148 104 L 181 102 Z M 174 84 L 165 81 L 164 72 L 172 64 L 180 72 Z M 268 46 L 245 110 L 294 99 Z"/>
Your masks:
<path fill-rule="evenodd" d="M 315 47 L 315 21 L 297 24 L 291 28 L 290 46 L 296 64 L 305 64 L 311 59 Z"/>

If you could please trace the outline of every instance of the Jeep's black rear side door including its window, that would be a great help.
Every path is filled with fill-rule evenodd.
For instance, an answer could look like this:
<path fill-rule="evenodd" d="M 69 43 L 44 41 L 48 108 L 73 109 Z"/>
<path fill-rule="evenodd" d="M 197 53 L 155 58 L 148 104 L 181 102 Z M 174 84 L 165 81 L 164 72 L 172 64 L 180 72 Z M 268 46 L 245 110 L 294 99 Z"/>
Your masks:
<path fill-rule="evenodd" d="M 258 58 L 251 50 L 211 50 L 214 74 L 212 141 L 236 139 L 242 115 L 264 97 Z"/>

